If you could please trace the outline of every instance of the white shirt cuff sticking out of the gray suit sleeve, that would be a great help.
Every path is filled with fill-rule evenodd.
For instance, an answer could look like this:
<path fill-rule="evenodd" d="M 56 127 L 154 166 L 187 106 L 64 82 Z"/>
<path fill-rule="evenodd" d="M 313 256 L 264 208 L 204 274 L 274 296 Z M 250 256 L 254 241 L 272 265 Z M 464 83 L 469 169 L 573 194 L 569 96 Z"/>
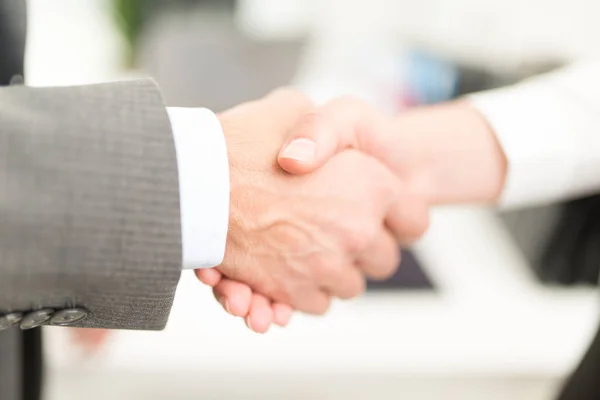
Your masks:
<path fill-rule="evenodd" d="M 221 264 L 229 225 L 229 162 L 221 124 L 202 108 L 168 107 L 177 165 L 183 268 Z"/>

